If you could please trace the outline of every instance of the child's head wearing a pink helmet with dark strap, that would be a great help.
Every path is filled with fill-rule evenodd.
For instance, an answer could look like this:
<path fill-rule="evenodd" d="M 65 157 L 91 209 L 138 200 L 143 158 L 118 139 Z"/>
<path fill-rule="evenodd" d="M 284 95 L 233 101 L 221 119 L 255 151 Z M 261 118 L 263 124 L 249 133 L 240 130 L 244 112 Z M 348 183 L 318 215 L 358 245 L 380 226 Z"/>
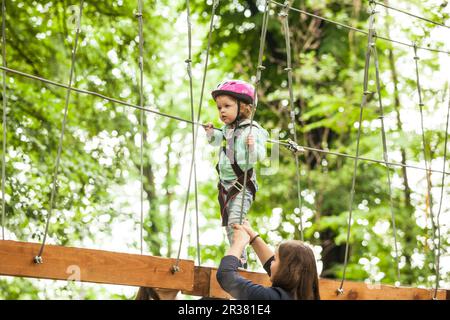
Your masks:
<path fill-rule="evenodd" d="M 225 124 L 251 117 L 255 88 L 240 80 L 222 82 L 211 92 L 219 110 L 220 119 Z"/>

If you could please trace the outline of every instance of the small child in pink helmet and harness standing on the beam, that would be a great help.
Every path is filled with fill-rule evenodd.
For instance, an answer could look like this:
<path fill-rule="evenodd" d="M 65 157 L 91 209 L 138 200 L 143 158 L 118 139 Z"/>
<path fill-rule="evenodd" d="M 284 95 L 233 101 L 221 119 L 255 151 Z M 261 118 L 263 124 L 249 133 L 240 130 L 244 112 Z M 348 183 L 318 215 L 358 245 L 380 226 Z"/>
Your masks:
<path fill-rule="evenodd" d="M 226 227 L 227 237 L 232 244 L 233 224 L 241 222 L 241 206 L 245 170 L 247 183 L 245 201 L 242 212 L 244 219 L 255 200 L 258 184 L 254 165 L 257 160 L 266 156 L 265 143 L 269 134 L 258 123 L 253 121 L 250 134 L 252 104 L 255 89 L 251 84 L 239 80 L 225 81 L 211 92 L 216 101 L 220 120 L 225 124 L 220 131 L 214 130 L 212 123 L 205 125 L 208 142 L 213 146 L 221 146 L 219 163 L 219 204 L 222 226 Z M 248 167 L 246 157 L 248 153 Z M 247 268 L 247 254 L 244 249 L 241 266 Z"/>

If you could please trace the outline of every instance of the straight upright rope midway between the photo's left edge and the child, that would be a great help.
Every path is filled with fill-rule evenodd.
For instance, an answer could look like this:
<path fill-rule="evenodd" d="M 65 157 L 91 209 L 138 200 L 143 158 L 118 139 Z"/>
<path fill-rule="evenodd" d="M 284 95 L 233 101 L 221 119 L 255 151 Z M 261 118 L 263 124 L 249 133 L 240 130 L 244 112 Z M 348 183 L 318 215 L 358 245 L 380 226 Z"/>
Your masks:
<path fill-rule="evenodd" d="M 142 0 L 138 0 L 138 12 L 136 17 L 139 21 L 139 106 L 144 107 L 144 31 L 142 18 Z M 139 126 L 141 127 L 140 145 L 140 180 L 141 180 L 141 254 L 144 253 L 144 111 L 140 110 Z"/>

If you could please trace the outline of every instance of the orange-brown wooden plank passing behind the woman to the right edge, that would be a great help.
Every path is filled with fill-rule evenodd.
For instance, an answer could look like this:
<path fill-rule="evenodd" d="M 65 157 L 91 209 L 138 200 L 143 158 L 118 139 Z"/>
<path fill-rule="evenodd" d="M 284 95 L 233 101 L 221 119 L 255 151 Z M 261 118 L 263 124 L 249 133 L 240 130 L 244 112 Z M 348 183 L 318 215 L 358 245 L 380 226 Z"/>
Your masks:
<path fill-rule="evenodd" d="M 241 276 L 263 286 L 271 286 L 269 276 L 265 273 L 240 271 Z M 211 268 L 210 296 L 230 299 L 231 296 L 222 290 L 216 280 L 217 269 Z M 368 285 L 363 282 L 345 281 L 344 294 L 337 295 L 340 281 L 320 279 L 319 290 L 322 300 L 431 300 L 433 289 L 394 287 L 389 285 Z M 439 300 L 447 299 L 450 290 L 438 290 Z"/>

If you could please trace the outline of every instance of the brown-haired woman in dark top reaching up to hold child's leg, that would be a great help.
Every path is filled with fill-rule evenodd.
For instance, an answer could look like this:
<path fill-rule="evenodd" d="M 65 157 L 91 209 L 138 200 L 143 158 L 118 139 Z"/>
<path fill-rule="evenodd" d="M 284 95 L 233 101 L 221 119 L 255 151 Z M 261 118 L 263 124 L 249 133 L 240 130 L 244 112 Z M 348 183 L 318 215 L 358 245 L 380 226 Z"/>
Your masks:
<path fill-rule="evenodd" d="M 314 253 L 296 240 L 281 243 L 275 254 L 248 224 L 233 226 L 233 244 L 222 258 L 217 281 L 236 299 L 248 300 L 320 300 L 319 279 Z M 247 244 L 270 276 L 271 287 L 254 284 L 238 274 L 239 257 Z"/>

